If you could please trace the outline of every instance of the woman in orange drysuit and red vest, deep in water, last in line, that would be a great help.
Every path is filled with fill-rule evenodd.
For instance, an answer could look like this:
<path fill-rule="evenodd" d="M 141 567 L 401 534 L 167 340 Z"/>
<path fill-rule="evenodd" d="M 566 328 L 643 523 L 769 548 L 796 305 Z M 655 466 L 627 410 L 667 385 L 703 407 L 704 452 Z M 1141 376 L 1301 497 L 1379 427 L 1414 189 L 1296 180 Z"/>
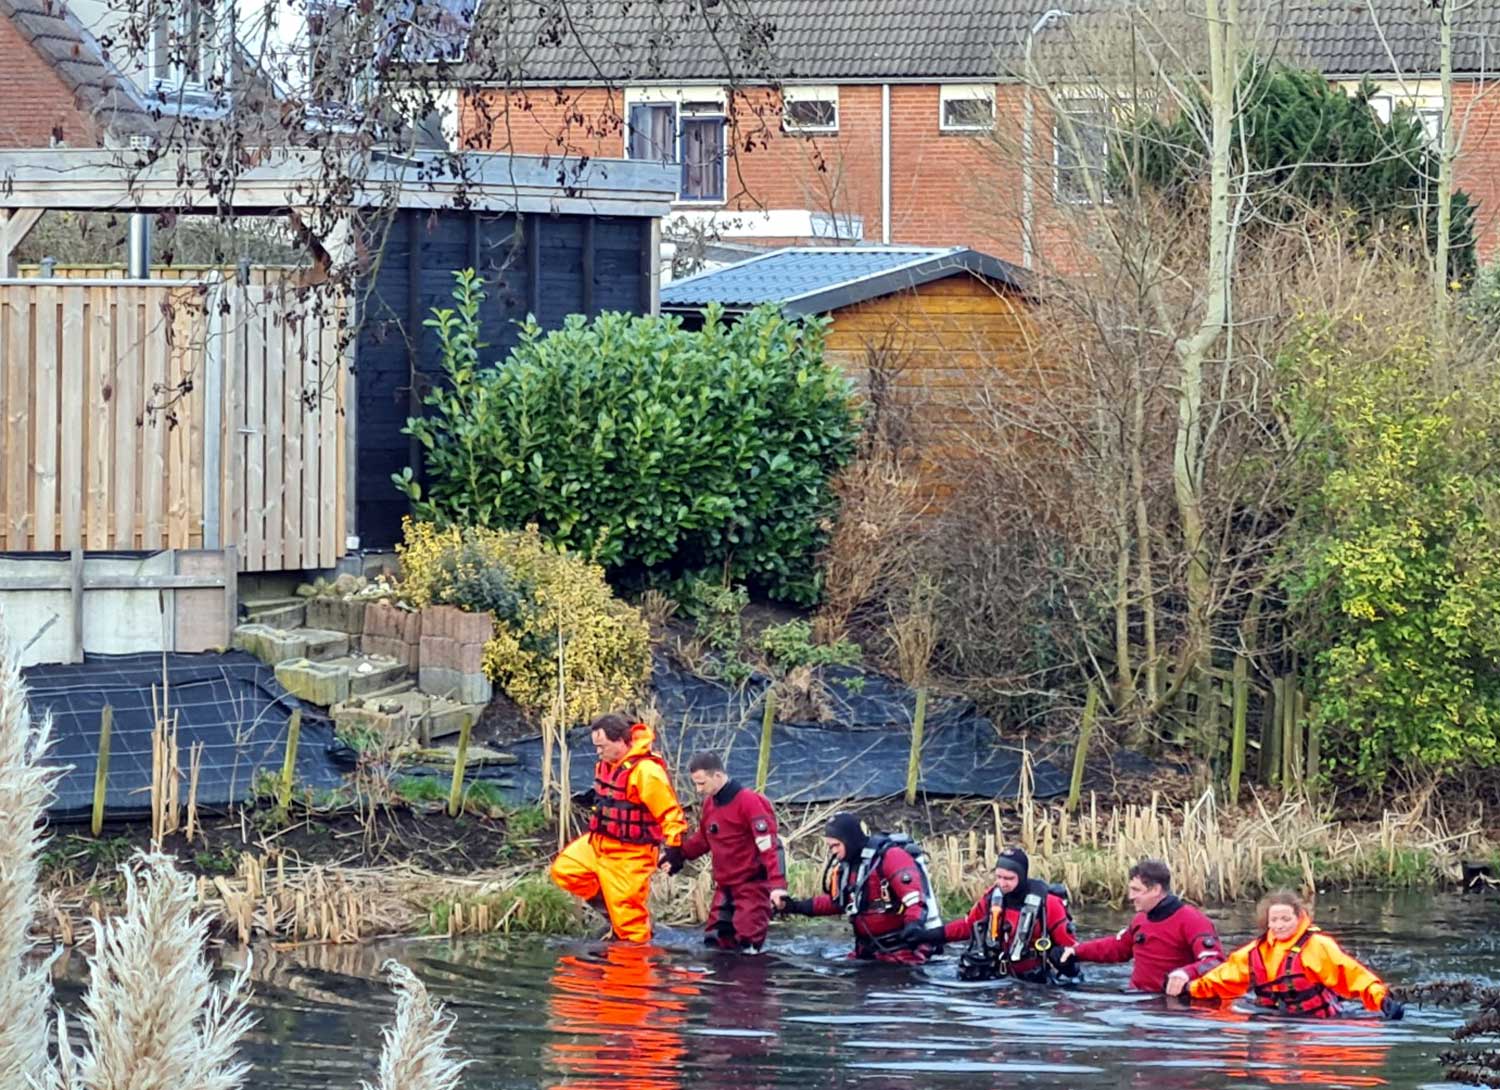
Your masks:
<path fill-rule="evenodd" d="M 1172 973 L 1167 994 L 1186 990 L 1192 999 L 1239 999 L 1254 993 L 1257 1006 L 1306 1018 L 1338 1018 L 1342 999 L 1358 999 L 1366 1011 L 1378 1011 L 1389 1020 L 1406 1014 L 1378 976 L 1312 924 L 1296 894 L 1282 891 L 1262 901 L 1258 924 L 1260 939 L 1240 946 L 1197 981 Z"/>

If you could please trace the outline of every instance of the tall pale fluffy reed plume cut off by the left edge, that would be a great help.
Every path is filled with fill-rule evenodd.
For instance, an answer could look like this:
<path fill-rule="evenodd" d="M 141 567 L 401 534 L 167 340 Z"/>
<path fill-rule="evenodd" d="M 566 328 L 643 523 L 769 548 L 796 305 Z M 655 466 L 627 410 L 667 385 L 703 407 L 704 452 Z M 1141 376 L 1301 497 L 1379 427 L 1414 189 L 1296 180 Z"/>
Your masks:
<path fill-rule="evenodd" d="M 33 723 L 21 664 L 0 625 L 0 1087 L 39 1086 L 46 1072 L 50 964 L 27 967 L 40 906 L 42 819 L 58 771 L 42 766 L 51 717 Z"/>

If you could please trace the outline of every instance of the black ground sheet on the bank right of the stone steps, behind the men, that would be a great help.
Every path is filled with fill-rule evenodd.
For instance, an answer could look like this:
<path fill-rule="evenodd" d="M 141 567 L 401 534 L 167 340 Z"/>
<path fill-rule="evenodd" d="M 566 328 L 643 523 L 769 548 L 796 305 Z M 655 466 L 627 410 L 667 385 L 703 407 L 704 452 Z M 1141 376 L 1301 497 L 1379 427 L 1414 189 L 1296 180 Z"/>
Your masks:
<path fill-rule="evenodd" d="M 898 681 L 830 667 L 836 720 L 777 723 L 771 735 L 766 793 L 777 802 L 884 799 L 906 790 L 910 724 L 916 693 Z M 855 682 L 852 691 L 846 682 Z M 662 726 L 657 750 L 678 771 L 698 750 L 728 759 L 732 775 L 754 778 L 760 747 L 762 697 L 770 679 L 756 675 L 744 687 L 723 685 L 672 669 L 660 658 L 652 672 Z M 486 768 L 472 778 L 494 783 L 513 801 L 542 796 L 542 739 L 504 744 L 518 765 Z M 568 736 L 568 780 L 585 790 L 594 780 L 594 747 L 588 732 Z M 918 787 L 933 796 L 1014 798 L 1020 792 L 1022 751 L 1006 745 L 994 724 L 970 700 L 932 699 L 922 741 Z M 1040 799 L 1068 792 L 1068 775 L 1048 762 L 1032 763 L 1032 792 Z"/>

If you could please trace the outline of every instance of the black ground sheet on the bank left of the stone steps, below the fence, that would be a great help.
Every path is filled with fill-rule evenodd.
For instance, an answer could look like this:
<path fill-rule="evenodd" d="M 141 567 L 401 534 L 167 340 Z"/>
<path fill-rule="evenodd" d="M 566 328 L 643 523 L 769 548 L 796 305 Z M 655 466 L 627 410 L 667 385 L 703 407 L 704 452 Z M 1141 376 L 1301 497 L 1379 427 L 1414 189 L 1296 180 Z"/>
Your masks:
<path fill-rule="evenodd" d="M 152 810 L 152 687 L 160 700 L 162 655 L 86 655 L 82 663 L 33 666 L 24 670 L 33 718 L 52 715 L 52 750 L 46 763 L 68 766 L 48 807 L 52 820 L 84 819 L 93 808 L 99 753 L 99 714 L 114 709 L 110 732 L 110 772 L 105 816 L 146 817 Z M 302 705 L 278 682 L 270 667 L 243 651 L 168 654 L 171 709 L 177 714 L 177 745 L 183 771 L 178 799 L 188 801 L 192 747 L 202 742 L 196 805 L 222 810 L 243 802 L 261 769 L 280 771 L 286 751 L 286 721 L 303 708 L 297 745 L 297 786 L 332 789 L 342 783 L 330 759 L 332 724 Z"/>

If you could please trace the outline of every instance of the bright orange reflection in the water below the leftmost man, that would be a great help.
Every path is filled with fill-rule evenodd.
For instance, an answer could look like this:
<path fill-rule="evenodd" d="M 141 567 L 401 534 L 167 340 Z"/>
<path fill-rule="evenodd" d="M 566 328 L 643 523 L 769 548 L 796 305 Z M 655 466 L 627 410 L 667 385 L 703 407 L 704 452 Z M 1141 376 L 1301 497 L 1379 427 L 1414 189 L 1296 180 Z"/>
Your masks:
<path fill-rule="evenodd" d="M 564 955 L 548 997 L 550 1066 L 572 1090 L 678 1090 L 696 975 L 652 946 L 610 943 Z"/>

